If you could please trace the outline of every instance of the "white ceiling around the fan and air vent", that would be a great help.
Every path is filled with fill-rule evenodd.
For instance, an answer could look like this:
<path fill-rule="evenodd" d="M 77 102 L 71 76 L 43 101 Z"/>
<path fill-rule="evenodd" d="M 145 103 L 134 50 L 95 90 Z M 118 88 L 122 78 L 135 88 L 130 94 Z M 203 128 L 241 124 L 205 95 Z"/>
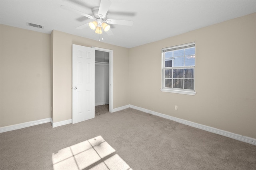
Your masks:
<path fill-rule="evenodd" d="M 98 40 L 92 20 L 60 8 L 69 6 L 92 15 L 100 0 L 1 0 L 0 23 L 50 34 L 52 30 Z M 103 33 L 104 43 L 136 47 L 256 12 L 256 0 L 112 0 L 107 19 L 132 20 L 133 26 L 113 25 L 114 35 Z M 43 25 L 30 27 L 26 22 Z"/>

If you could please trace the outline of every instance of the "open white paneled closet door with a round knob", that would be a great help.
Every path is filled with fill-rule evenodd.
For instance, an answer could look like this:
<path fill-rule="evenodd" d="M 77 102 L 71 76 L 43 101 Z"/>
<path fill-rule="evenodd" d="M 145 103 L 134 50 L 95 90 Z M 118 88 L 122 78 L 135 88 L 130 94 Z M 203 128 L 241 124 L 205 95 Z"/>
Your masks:
<path fill-rule="evenodd" d="M 72 45 L 72 123 L 95 117 L 94 49 Z"/>

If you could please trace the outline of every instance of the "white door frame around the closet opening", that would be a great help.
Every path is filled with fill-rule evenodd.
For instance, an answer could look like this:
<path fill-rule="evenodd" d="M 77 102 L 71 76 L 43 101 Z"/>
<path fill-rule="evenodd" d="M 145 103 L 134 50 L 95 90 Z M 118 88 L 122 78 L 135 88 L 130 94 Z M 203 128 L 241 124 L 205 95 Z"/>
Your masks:
<path fill-rule="evenodd" d="M 98 51 L 104 51 L 109 53 L 109 112 L 113 113 L 113 50 L 103 49 L 100 47 L 92 47 Z"/>

